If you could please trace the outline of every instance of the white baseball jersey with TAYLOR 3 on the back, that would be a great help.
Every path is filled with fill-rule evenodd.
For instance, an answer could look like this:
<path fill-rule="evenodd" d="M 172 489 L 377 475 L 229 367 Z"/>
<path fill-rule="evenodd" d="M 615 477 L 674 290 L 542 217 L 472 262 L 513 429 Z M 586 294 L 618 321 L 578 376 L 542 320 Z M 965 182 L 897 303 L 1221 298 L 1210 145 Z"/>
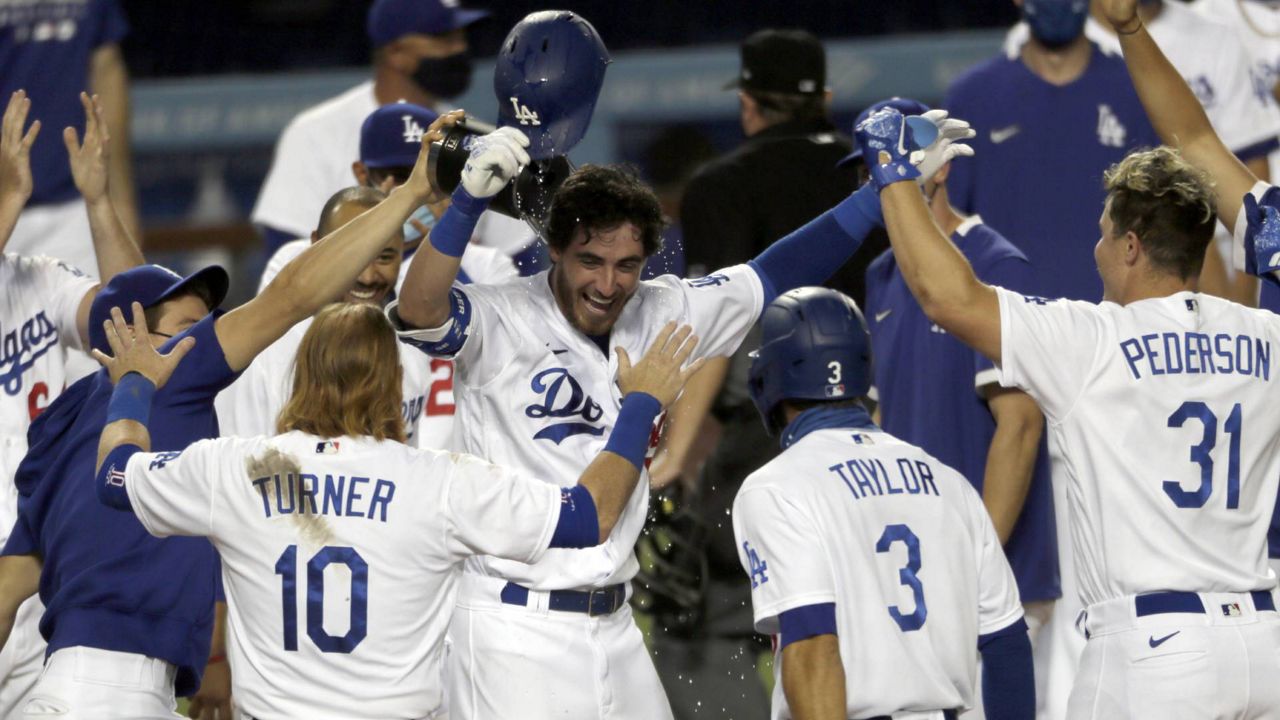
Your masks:
<path fill-rule="evenodd" d="M 973 705 L 978 635 L 1023 616 L 973 486 L 879 429 L 801 437 L 742 483 L 733 536 L 756 630 L 836 603 L 849 717 Z M 791 717 L 781 653 L 773 673 L 773 717 Z"/>

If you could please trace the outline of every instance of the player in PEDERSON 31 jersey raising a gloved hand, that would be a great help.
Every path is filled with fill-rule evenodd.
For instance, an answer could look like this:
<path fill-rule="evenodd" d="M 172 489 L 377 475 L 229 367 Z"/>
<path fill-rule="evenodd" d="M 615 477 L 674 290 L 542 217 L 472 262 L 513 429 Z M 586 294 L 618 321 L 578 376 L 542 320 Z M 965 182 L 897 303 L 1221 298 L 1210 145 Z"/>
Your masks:
<path fill-rule="evenodd" d="M 1138 79 L 1151 65 L 1133 54 L 1161 56 L 1126 9 L 1108 14 Z M 1144 101 L 1156 86 L 1187 91 L 1164 68 L 1171 81 L 1138 81 Z M 1189 92 L 1162 97 L 1203 119 Z M 899 182 L 916 176 L 902 128 L 892 109 L 858 128 L 902 274 L 933 322 L 1036 398 L 1064 457 L 1088 638 L 1068 717 L 1275 716 L 1266 532 L 1280 482 L 1280 324 L 1194 291 L 1216 222 L 1204 176 L 1167 147 L 1114 165 L 1094 247 L 1103 302 L 1046 300 L 974 277 L 919 190 Z"/>

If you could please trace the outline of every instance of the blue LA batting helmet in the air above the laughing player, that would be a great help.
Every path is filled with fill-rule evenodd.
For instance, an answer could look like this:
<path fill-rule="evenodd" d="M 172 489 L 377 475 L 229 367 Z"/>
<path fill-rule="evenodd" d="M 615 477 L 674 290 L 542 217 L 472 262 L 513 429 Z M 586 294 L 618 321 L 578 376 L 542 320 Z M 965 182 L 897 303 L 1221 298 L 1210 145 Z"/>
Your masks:
<path fill-rule="evenodd" d="M 529 136 L 529 156 L 566 155 L 591 124 L 609 51 L 568 10 L 543 10 L 516 23 L 502 42 L 493 91 L 498 124 Z"/>

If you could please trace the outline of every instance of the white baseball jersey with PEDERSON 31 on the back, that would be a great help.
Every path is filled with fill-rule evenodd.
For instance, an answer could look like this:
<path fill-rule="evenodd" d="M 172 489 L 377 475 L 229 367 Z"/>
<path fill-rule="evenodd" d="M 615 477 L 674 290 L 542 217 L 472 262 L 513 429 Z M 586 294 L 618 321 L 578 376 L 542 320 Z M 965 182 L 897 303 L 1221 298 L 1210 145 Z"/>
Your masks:
<path fill-rule="evenodd" d="M 1085 606 L 1270 589 L 1280 319 L 1178 292 L 1125 306 L 997 288 L 1001 375 L 1044 411 Z"/>

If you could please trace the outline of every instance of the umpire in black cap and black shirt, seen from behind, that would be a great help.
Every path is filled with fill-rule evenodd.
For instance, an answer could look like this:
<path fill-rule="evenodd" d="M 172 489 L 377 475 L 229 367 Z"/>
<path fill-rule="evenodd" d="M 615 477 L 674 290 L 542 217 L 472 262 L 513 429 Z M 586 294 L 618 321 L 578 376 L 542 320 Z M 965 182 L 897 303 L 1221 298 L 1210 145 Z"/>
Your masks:
<path fill-rule="evenodd" d="M 855 170 L 836 167 L 851 142 L 836 132 L 828 115 L 827 60 L 818 38 L 799 29 L 764 29 L 748 37 L 741 53 L 739 77 L 726 90 L 737 88 L 746 142 L 704 165 L 681 202 L 690 277 L 750 260 L 855 190 Z M 827 283 L 859 304 L 867 265 L 886 246 L 883 233 L 877 236 L 879 242 L 869 238 Z M 755 671 L 760 650 L 768 644 L 753 630 L 751 588 L 737 561 L 728 516 L 746 475 L 778 454 L 777 439 L 764 432 L 746 391 L 746 352 L 759 346 L 758 331 L 732 359 L 708 364 L 690 380 L 668 420 L 669 456 L 659 456 L 652 469 L 655 486 L 678 477 L 709 406 L 721 424 L 721 439 L 684 500 L 701 523 L 678 518 L 659 530 L 678 533 L 696 525 L 696 539 L 675 543 L 685 548 L 684 556 L 667 557 L 657 570 L 645 571 L 659 596 L 663 587 L 696 578 L 696 588 L 677 587 L 680 592 L 671 593 L 680 598 L 681 612 L 662 611 L 676 603 L 671 598 L 664 603 L 659 597 L 654 606 L 654 660 L 677 720 L 769 716 L 769 700 Z M 663 492 L 677 487 L 673 483 Z M 655 503 L 659 515 L 662 506 Z M 705 555 L 690 557 L 690 547 Z M 660 577 L 664 571 L 666 578 Z M 696 607 L 690 607 L 694 602 Z"/>

